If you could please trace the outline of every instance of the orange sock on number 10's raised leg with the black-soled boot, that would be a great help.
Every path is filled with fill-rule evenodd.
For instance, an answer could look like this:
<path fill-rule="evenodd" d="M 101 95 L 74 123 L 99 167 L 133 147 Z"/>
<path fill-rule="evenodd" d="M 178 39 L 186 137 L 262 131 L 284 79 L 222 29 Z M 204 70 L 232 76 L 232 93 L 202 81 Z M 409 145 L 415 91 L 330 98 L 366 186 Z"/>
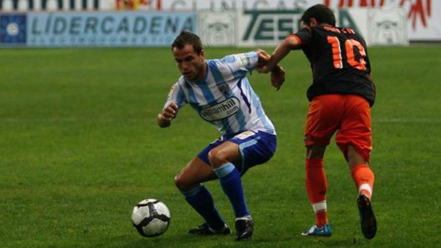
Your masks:
<path fill-rule="evenodd" d="M 374 173 L 372 170 L 367 165 L 360 164 L 352 169 L 351 174 L 355 186 L 358 188 L 358 194 L 364 194 L 370 198 L 374 187 Z"/>

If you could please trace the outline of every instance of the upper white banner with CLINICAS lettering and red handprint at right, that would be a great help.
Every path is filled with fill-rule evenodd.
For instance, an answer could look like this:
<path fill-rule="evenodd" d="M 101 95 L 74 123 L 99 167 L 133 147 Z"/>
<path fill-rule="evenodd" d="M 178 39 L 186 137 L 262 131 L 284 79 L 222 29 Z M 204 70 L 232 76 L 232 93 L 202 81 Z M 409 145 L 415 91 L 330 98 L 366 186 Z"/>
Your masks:
<path fill-rule="evenodd" d="M 157 7 L 157 1 L 149 1 Z M 441 0 L 162 0 L 161 10 L 305 10 L 325 4 L 334 10 L 350 12 L 365 9 L 392 11 L 404 9 L 408 39 L 441 41 Z M 360 24 L 361 25 L 361 24 Z"/>

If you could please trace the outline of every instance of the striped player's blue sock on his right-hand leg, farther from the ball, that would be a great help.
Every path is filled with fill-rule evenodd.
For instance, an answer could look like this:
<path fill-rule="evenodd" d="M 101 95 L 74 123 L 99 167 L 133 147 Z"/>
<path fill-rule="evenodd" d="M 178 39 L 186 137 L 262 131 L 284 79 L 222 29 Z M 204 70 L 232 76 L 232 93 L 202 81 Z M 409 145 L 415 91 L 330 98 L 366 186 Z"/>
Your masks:
<path fill-rule="evenodd" d="M 220 185 L 224 189 L 225 194 L 230 198 L 233 205 L 236 218 L 250 215 L 247 203 L 245 203 L 244 189 L 242 188 L 241 174 L 234 164 L 226 163 L 214 169 L 217 177 L 219 177 Z"/>

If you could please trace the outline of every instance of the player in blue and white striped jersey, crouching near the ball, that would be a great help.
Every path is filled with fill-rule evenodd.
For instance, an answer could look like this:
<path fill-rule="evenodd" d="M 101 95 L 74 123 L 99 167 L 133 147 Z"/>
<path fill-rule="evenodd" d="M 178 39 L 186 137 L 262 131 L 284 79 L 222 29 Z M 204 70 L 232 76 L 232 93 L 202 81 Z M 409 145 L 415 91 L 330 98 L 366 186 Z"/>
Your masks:
<path fill-rule="evenodd" d="M 222 134 L 197 154 L 175 177 L 185 200 L 205 220 L 189 230 L 194 234 L 228 234 L 202 182 L 218 179 L 236 216 L 236 239 L 253 234 L 253 220 L 245 201 L 241 176 L 252 166 L 267 162 L 276 151 L 276 131 L 265 114 L 246 74 L 264 65 L 270 56 L 262 51 L 205 60 L 199 37 L 182 32 L 173 42 L 172 54 L 182 76 L 171 87 L 158 125 L 168 127 L 179 109 L 189 104 Z M 272 84 L 281 85 L 285 72 L 272 71 Z"/>

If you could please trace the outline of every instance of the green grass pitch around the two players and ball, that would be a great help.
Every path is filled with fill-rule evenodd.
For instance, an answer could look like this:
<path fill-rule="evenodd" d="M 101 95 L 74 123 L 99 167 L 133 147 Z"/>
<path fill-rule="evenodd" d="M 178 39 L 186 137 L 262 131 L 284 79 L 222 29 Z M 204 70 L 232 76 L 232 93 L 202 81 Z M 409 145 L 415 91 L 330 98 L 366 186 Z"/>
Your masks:
<path fill-rule="evenodd" d="M 220 58 L 247 49 L 206 49 Z M 279 92 L 268 75 L 250 81 L 278 132 L 278 150 L 243 177 L 255 219 L 246 242 L 190 236 L 202 219 L 173 177 L 217 137 L 189 106 L 172 126 L 156 115 L 179 72 L 164 49 L 0 50 L 1 247 L 436 246 L 441 238 L 439 146 L 441 47 L 371 48 L 377 100 L 371 167 L 377 236 L 363 238 L 356 189 L 335 144 L 325 156 L 330 238 L 300 236 L 314 216 L 304 185 L 303 126 L 311 82 L 300 52 L 282 65 Z M 218 181 L 206 183 L 225 219 L 233 210 Z M 164 201 L 171 224 L 156 238 L 131 226 L 133 205 Z"/>

